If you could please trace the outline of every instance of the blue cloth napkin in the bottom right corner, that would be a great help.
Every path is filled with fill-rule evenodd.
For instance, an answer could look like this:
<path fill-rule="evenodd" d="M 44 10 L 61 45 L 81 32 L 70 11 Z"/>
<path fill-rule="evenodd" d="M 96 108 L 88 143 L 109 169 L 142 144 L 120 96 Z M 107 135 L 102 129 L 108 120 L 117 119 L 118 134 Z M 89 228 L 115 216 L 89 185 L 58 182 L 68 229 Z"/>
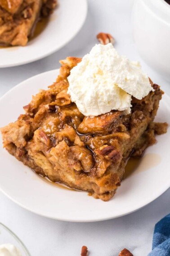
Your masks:
<path fill-rule="evenodd" d="M 170 214 L 155 225 L 152 251 L 148 256 L 170 256 Z"/>

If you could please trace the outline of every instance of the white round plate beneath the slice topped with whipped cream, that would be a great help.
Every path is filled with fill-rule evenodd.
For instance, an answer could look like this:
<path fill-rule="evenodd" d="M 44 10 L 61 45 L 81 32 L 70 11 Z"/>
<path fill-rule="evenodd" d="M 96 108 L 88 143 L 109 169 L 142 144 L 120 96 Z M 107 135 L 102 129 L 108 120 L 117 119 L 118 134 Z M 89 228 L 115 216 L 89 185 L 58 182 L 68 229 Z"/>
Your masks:
<path fill-rule="evenodd" d="M 15 121 L 32 94 L 47 88 L 57 75 L 58 70 L 36 75 L 6 93 L 0 99 L 0 127 Z M 170 98 L 164 94 L 157 121 L 170 124 L 169 102 Z M 146 150 L 139 166 L 109 202 L 45 182 L 2 149 L 0 141 L 0 190 L 23 208 L 53 219 L 89 222 L 116 218 L 147 205 L 170 187 L 169 141 L 170 129 L 157 136 L 157 144 Z"/>

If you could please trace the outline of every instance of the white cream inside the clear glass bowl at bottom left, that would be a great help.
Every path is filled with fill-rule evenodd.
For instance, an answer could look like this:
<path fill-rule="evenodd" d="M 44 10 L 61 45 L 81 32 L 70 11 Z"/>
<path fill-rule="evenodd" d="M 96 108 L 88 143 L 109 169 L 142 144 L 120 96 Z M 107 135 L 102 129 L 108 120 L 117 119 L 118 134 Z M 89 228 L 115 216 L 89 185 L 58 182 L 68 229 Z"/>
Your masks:
<path fill-rule="evenodd" d="M 22 256 L 21 252 L 13 244 L 0 245 L 0 256 Z"/>

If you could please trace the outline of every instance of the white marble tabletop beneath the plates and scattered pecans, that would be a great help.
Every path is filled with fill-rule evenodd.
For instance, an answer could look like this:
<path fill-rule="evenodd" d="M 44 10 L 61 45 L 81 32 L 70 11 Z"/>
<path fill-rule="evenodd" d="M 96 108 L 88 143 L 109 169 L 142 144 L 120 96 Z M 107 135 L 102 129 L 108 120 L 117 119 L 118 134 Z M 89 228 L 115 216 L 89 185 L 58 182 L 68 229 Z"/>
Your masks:
<path fill-rule="evenodd" d="M 24 79 L 58 68 L 58 60 L 66 56 L 83 56 L 97 42 L 95 35 L 101 31 L 111 33 L 116 38 L 116 49 L 132 60 L 141 61 L 143 70 L 170 95 L 170 82 L 145 64 L 135 49 L 130 23 L 133 0 L 88 2 L 85 24 L 67 46 L 40 61 L 0 70 L 0 96 Z M 5 114 L 5 106 L 0 111 Z M 0 222 L 18 234 L 32 256 L 78 256 L 82 245 L 89 248 L 90 256 L 118 256 L 124 247 L 134 256 L 147 256 L 155 223 L 170 213 L 169 198 L 170 190 L 143 209 L 118 219 L 67 223 L 32 214 L 0 193 Z"/>

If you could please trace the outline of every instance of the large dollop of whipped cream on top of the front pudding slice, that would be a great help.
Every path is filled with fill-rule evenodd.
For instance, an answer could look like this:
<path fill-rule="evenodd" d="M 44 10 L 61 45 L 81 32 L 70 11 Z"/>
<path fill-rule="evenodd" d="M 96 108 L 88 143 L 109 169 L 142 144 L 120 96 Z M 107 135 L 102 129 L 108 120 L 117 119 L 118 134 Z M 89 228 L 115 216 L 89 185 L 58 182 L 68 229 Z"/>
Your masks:
<path fill-rule="evenodd" d="M 68 76 L 68 94 L 85 116 L 111 110 L 130 113 L 131 96 L 142 99 L 152 90 L 139 62 L 118 55 L 111 43 L 95 45 Z"/>

